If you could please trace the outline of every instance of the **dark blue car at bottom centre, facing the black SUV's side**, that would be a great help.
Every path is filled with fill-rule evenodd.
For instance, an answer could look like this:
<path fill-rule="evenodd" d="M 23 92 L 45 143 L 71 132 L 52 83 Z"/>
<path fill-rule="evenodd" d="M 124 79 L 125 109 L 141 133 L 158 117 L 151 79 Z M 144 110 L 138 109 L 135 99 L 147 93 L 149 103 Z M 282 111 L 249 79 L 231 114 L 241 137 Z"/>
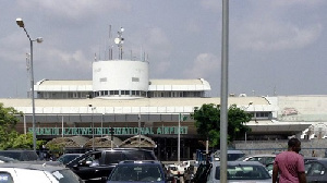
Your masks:
<path fill-rule="evenodd" d="M 164 166 L 159 161 L 121 161 L 110 173 L 107 183 L 157 182 L 167 183 L 172 176 L 166 176 Z"/>

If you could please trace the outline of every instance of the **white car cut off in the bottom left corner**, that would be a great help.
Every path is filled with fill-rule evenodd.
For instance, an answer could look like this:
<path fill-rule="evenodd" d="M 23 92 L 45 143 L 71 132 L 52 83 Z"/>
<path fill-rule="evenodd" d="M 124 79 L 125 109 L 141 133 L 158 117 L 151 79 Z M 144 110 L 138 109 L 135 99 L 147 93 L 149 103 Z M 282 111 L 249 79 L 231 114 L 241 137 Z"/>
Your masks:
<path fill-rule="evenodd" d="M 0 163 L 0 182 L 84 183 L 69 168 L 21 162 Z"/>

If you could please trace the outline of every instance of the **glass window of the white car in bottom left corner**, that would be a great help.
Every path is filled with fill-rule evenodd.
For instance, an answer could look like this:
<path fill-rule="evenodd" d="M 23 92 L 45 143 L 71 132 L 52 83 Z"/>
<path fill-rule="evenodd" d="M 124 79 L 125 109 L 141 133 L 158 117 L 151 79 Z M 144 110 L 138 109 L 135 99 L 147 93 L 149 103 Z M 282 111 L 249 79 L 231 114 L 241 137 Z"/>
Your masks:
<path fill-rule="evenodd" d="M 53 171 L 51 174 L 59 183 L 83 183 L 83 180 L 69 169 Z"/>

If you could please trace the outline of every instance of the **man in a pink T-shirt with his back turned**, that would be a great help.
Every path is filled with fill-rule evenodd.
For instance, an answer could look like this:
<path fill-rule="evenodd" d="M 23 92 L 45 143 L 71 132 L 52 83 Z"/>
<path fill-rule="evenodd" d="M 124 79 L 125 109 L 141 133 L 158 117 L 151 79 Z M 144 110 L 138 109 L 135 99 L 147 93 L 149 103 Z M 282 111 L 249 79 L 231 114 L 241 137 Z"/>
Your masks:
<path fill-rule="evenodd" d="M 272 183 L 306 183 L 304 160 L 299 154 L 300 150 L 301 142 L 298 138 L 289 139 L 288 150 L 275 158 Z"/>

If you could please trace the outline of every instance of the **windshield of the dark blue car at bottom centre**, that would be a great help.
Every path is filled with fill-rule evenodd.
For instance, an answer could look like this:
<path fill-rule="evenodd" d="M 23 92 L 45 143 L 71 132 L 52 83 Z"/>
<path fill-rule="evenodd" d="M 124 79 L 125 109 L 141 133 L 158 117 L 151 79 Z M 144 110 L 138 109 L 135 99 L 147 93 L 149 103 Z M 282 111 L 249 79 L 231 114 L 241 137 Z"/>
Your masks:
<path fill-rule="evenodd" d="M 126 182 L 158 182 L 164 176 L 158 164 L 119 164 L 109 178 L 109 181 Z"/>

